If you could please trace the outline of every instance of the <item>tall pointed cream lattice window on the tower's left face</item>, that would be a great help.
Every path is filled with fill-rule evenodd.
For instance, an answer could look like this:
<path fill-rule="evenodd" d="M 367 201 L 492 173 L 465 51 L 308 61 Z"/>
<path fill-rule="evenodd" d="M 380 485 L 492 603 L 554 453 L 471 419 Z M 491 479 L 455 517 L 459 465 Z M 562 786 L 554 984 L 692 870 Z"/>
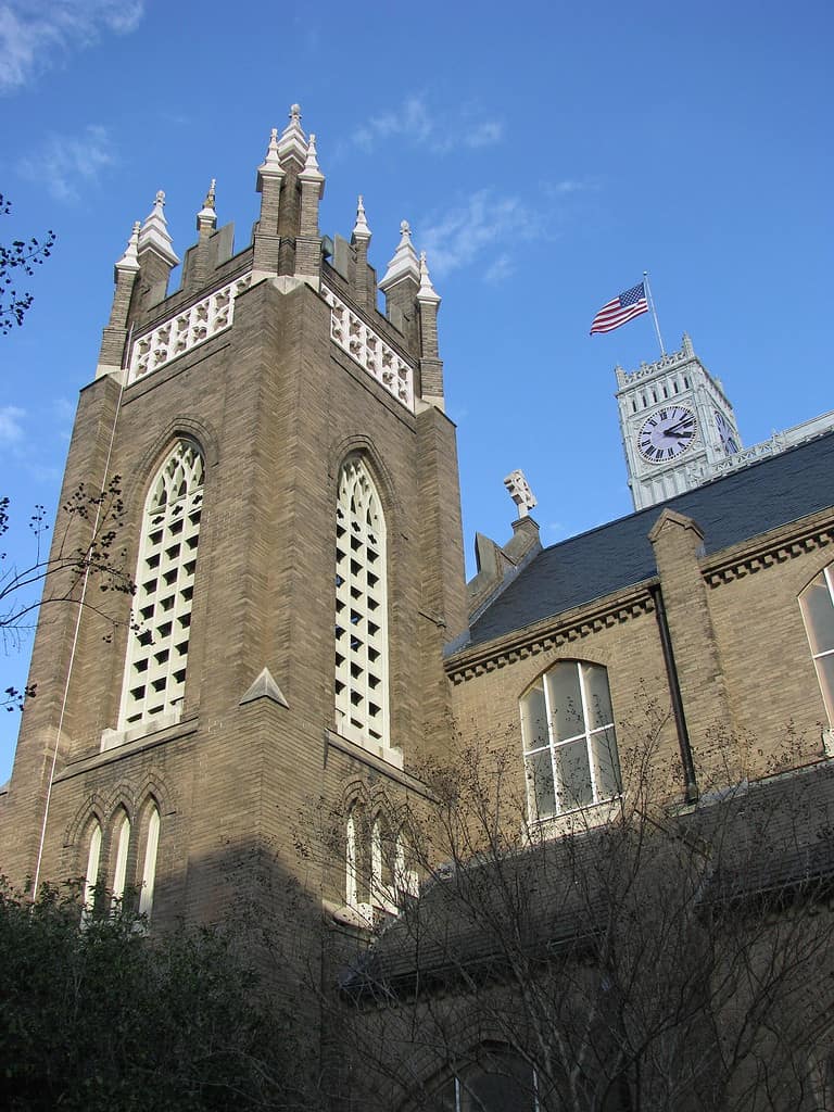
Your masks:
<path fill-rule="evenodd" d="M 179 718 L 186 685 L 203 460 L 180 440 L 151 485 L 145 508 L 135 617 L 125 669 L 120 726 Z"/>

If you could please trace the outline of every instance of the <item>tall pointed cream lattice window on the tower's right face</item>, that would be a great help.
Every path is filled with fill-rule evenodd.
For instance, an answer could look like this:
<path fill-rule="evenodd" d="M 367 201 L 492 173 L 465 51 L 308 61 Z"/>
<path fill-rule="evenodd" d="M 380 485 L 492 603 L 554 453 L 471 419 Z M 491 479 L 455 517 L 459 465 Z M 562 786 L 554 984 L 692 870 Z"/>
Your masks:
<path fill-rule="evenodd" d="M 364 464 L 339 476 L 336 507 L 336 725 L 353 741 L 388 745 L 385 518 Z"/>

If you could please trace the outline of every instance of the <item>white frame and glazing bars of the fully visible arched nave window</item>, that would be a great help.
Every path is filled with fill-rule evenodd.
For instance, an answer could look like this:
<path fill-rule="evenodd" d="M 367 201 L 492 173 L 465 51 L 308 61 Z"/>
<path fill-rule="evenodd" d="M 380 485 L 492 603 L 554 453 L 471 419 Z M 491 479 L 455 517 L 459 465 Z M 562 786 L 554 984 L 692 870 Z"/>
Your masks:
<path fill-rule="evenodd" d="M 560 668 L 576 669 L 579 698 L 582 703 L 582 723 L 583 728 L 577 729 L 575 734 L 566 735 L 564 737 L 555 737 L 555 723 L 556 723 L 556 708 L 552 705 L 552 694 L 550 684 L 548 677 Z M 524 763 L 525 763 L 525 777 L 527 781 L 527 813 L 530 816 L 530 822 L 547 822 L 549 820 L 556 818 L 560 815 L 570 814 L 572 812 L 584 811 L 587 807 L 597 806 L 600 803 L 605 803 L 608 800 L 615 798 L 622 792 L 622 778 L 619 771 L 619 755 L 617 751 L 617 738 L 616 729 L 614 725 L 614 711 L 612 705 L 612 718 L 610 722 L 603 722 L 599 724 L 594 724 L 593 707 L 590 705 L 590 699 L 588 696 L 588 674 L 590 669 L 596 669 L 602 677 L 605 679 L 606 688 L 608 692 L 608 704 L 610 702 L 610 686 L 608 685 L 608 673 L 600 664 L 595 664 L 590 661 L 559 661 L 548 668 L 547 672 L 543 673 L 537 679 L 527 688 L 525 694 L 522 696 L 520 706 L 520 717 L 522 717 L 522 743 L 524 749 Z M 545 715 L 547 725 L 547 742 L 545 744 L 530 744 L 530 738 L 527 737 L 527 714 L 525 703 L 532 697 L 533 692 L 540 685 L 542 692 L 544 694 L 545 701 Z M 595 757 L 594 744 L 595 741 L 604 738 L 608 747 L 609 759 L 612 763 L 612 770 L 615 778 L 615 786 L 613 791 L 603 791 L 599 783 L 599 773 L 597 770 L 597 761 Z M 566 748 L 569 745 L 576 745 L 578 742 L 585 742 L 585 754 L 588 762 L 588 771 L 590 776 L 590 795 L 592 798 L 586 802 L 576 802 L 573 806 L 563 805 L 560 803 L 559 791 L 559 772 L 558 762 L 556 759 L 559 749 Z M 550 776 L 553 783 L 553 795 L 554 795 L 554 810 L 552 812 L 539 812 L 539 798 L 536 792 L 536 773 L 535 763 L 532 758 L 539 756 L 543 753 L 549 752 L 550 761 Z"/>

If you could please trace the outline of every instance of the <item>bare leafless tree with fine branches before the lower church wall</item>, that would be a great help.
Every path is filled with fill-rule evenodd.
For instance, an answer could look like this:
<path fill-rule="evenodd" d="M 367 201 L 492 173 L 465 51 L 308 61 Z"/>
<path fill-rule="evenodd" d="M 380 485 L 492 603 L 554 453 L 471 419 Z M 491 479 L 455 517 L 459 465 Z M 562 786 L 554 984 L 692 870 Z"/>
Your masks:
<path fill-rule="evenodd" d="M 353 954 L 348 926 L 331 935 L 349 1106 L 834 1108 L 834 773 L 682 806 L 653 726 L 622 757 L 622 796 L 557 823 L 528 821 L 505 744 L 393 803 L 420 894 Z"/>

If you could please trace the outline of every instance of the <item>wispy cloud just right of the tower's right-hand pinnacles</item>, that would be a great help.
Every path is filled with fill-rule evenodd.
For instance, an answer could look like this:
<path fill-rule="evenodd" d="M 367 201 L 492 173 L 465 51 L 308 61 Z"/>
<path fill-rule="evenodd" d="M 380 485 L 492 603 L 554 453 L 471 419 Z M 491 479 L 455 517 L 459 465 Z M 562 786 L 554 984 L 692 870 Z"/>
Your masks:
<path fill-rule="evenodd" d="M 500 281 L 513 272 L 512 247 L 539 234 L 540 220 L 517 197 L 478 190 L 435 222 L 420 227 L 417 246 L 426 251 L 433 277 L 470 266 L 484 266 L 484 278 Z"/>

